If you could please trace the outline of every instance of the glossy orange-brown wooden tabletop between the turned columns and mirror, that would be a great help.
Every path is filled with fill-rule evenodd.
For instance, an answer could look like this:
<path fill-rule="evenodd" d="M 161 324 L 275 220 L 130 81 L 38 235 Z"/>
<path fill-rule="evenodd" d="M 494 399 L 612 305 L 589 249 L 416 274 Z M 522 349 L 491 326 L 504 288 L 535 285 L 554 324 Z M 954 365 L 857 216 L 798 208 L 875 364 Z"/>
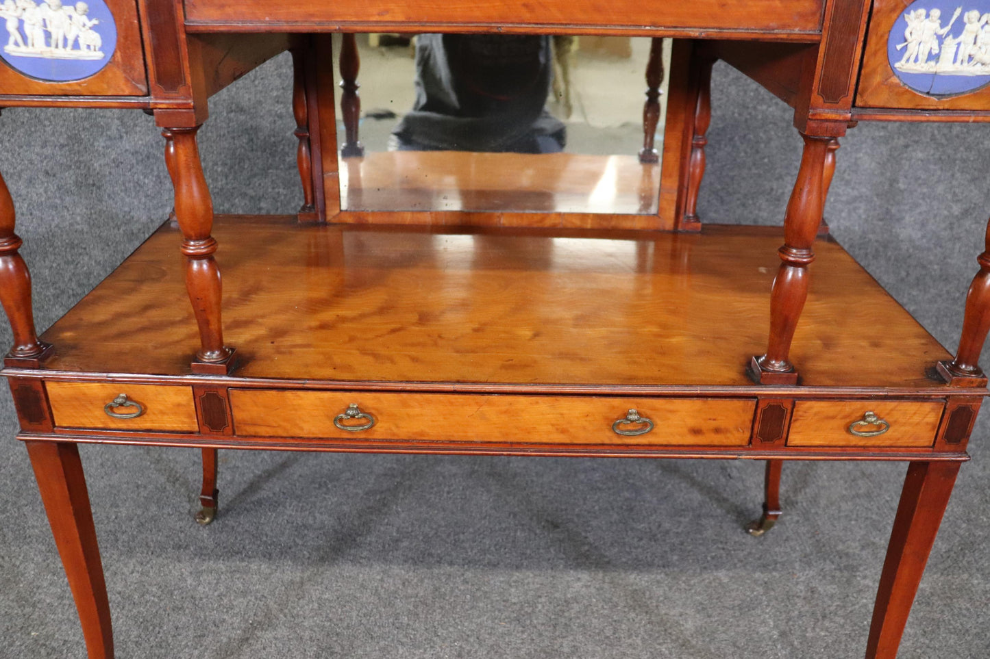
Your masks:
<path fill-rule="evenodd" d="M 247 355 L 239 376 L 537 385 L 750 384 L 780 244 L 775 228 L 568 235 L 223 216 L 214 233 L 227 329 Z M 189 373 L 198 335 L 176 239 L 159 229 L 55 323 L 47 367 Z M 944 348 L 837 243 L 816 249 L 792 349 L 804 384 L 940 386 L 925 369 Z"/>

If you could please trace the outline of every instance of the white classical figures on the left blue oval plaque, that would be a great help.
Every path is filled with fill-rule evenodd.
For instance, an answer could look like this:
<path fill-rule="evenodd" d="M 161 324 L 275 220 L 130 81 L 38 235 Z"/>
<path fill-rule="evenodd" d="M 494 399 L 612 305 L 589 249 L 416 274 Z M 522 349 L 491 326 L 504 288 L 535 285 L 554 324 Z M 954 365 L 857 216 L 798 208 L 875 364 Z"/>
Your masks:
<path fill-rule="evenodd" d="M 103 39 L 85 2 L 63 5 L 61 0 L 4 0 L 0 18 L 6 20 L 4 51 L 21 57 L 101 59 Z M 23 30 L 23 33 L 22 33 Z"/>

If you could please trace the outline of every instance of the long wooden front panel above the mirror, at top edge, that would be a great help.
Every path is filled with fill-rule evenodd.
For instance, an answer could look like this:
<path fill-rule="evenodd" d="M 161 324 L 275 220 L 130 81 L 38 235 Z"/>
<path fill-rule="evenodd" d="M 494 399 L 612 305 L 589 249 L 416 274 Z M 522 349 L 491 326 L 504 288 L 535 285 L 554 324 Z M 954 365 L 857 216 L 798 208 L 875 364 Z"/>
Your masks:
<path fill-rule="evenodd" d="M 190 31 L 499 32 L 739 35 L 818 41 L 822 0 L 186 0 Z M 662 33 L 662 34 L 660 34 Z"/>

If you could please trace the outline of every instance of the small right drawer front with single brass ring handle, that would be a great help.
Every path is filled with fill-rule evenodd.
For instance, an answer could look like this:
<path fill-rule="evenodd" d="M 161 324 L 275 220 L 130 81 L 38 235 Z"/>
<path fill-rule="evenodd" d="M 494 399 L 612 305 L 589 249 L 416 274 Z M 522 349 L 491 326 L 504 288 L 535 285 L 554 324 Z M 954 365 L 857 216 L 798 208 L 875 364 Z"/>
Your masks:
<path fill-rule="evenodd" d="M 932 446 L 942 408 L 940 402 L 922 401 L 798 401 L 787 445 Z M 876 423 L 865 422 L 868 412 L 876 416 Z M 856 425 L 850 429 L 852 424 Z M 878 433 L 861 436 L 853 430 Z"/>

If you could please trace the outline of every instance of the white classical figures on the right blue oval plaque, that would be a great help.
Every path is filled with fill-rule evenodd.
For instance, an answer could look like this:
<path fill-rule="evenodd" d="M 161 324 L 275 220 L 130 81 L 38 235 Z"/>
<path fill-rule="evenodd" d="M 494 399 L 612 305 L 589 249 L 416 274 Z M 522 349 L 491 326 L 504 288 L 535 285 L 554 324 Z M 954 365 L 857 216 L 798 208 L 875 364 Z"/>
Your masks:
<path fill-rule="evenodd" d="M 953 36 L 949 33 L 960 15 L 962 7 L 957 7 L 943 28 L 940 9 L 916 9 L 905 14 L 908 27 L 904 43 L 897 45 L 904 54 L 894 67 L 905 73 L 990 74 L 990 13 L 967 11 L 962 30 Z"/>

